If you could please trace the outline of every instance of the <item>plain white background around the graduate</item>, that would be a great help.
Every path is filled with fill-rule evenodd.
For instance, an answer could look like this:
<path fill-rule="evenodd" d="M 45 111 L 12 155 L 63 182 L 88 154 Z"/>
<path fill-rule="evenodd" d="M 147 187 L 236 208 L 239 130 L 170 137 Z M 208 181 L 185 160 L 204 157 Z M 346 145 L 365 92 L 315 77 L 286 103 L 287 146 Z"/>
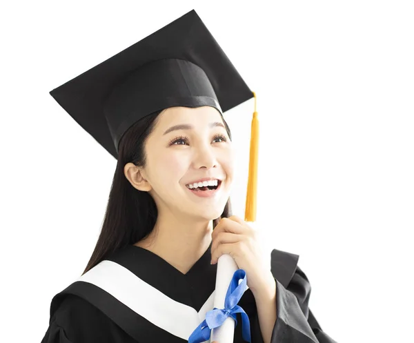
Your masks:
<path fill-rule="evenodd" d="M 116 161 L 49 91 L 195 9 L 260 119 L 264 248 L 300 255 L 337 342 L 413 339 L 411 1 L 14 1 L 1 10 L 2 342 L 40 342 L 95 247 Z M 226 112 L 244 217 L 253 99 Z"/>

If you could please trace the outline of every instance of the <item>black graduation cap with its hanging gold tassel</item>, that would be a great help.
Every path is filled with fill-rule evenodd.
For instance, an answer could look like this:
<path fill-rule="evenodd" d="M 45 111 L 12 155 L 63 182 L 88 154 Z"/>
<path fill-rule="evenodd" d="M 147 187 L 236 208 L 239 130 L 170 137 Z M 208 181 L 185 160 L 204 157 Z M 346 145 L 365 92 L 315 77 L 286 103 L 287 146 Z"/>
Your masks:
<path fill-rule="evenodd" d="M 212 106 L 221 115 L 255 97 L 195 10 L 50 91 L 117 159 L 139 119 L 173 106 Z M 256 106 L 256 104 L 255 104 Z M 246 220 L 255 220 L 258 122 L 252 121 Z"/>

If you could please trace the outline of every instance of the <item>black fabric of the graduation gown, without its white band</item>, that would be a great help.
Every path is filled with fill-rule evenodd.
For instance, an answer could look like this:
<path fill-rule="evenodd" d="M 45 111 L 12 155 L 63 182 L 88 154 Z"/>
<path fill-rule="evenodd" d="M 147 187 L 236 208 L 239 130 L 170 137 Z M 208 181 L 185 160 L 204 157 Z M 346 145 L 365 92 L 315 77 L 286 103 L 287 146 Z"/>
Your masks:
<path fill-rule="evenodd" d="M 144 266 L 142 257 L 144 256 L 146 257 L 146 268 L 142 268 Z M 275 306 L 277 311 L 277 320 L 273 329 L 271 342 L 335 343 L 335 340 L 322 331 L 321 326 L 319 326 L 313 313 L 308 308 L 311 285 L 304 272 L 295 264 L 298 256 L 274 250 L 271 258 L 271 271 L 276 282 Z M 164 259 L 161 259 L 161 257 L 157 257 L 157 255 L 136 246 L 133 248 L 129 246 L 125 251 L 119 251 L 111 259 L 122 264 L 122 266 L 126 266 L 135 275 L 138 274 L 139 277 L 146 279 L 146 282 L 150 282 L 152 286 L 157 284 L 163 289 L 163 293 L 166 292 L 173 298 L 182 296 L 182 290 L 180 291 L 176 287 L 170 286 L 172 284 L 171 282 L 168 284 L 169 286 L 164 285 L 157 275 L 163 272 L 168 273 L 168 271 L 175 273 L 175 270 L 177 273 L 173 277 L 175 277 L 175 282 L 178 282 L 177 288 L 180 288 L 180 281 L 177 280 L 190 280 L 193 278 L 192 282 L 199 282 L 198 273 L 205 272 L 206 268 L 217 268 L 217 264 L 210 265 L 210 248 L 208 248 L 206 253 L 186 275 L 177 271 L 173 266 L 164 261 Z M 211 271 L 206 284 L 215 284 L 215 273 L 213 269 Z M 290 280 L 288 280 L 286 275 L 292 275 Z M 168 277 L 172 277 L 172 275 Z M 213 280 L 210 280 L 210 278 Z M 162 285 L 161 283 L 158 284 L 160 281 Z M 190 281 L 190 284 L 192 282 Z M 96 306 L 94 306 L 91 303 L 91 301 L 95 301 L 92 297 L 89 297 L 88 300 L 84 298 L 88 296 L 86 295 L 87 292 L 85 289 L 79 291 L 81 288 L 77 288 L 79 294 L 71 293 L 75 289 L 76 284 L 78 286 L 79 284 L 85 286 L 87 283 L 75 282 L 53 298 L 49 327 L 41 341 L 42 343 L 186 342 L 186 340 L 171 335 L 148 321 L 145 322 L 145 318 L 141 318 L 140 322 L 137 313 L 124 311 L 122 309 L 123 305 L 119 304 L 117 300 L 107 302 L 109 299 L 108 295 L 99 293 L 98 288 L 94 285 L 89 285 L 89 294 L 94 294 L 95 300 L 98 299 L 95 302 Z M 193 290 L 191 299 L 198 299 L 198 304 L 204 303 L 206 297 L 210 294 L 210 290 L 206 291 L 206 288 L 204 290 L 200 288 L 199 292 L 197 292 L 198 288 L 192 286 L 190 288 Z M 188 291 L 190 288 L 186 288 L 185 291 Z M 105 302 L 99 302 L 99 299 L 105 299 Z M 187 301 L 188 299 L 188 297 L 183 297 L 181 300 Z M 105 308 L 103 304 L 107 304 L 108 308 Z M 194 305 L 195 302 L 192 302 L 192 304 Z M 250 319 L 252 343 L 263 343 L 255 298 L 250 289 L 244 293 L 239 305 L 244 308 L 244 311 L 246 311 Z M 103 308 L 103 311 L 99 307 Z M 117 313 L 118 317 L 114 316 L 113 313 Z M 235 328 L 234 342 L 239 343 L 244 342 L 242 339 L 241 317 L 239 315 L 237 320 L 238 325 Z M 137 329 L 132 336 L 128 331 L 134 329 L 135 326 L 140 329 Z"/>

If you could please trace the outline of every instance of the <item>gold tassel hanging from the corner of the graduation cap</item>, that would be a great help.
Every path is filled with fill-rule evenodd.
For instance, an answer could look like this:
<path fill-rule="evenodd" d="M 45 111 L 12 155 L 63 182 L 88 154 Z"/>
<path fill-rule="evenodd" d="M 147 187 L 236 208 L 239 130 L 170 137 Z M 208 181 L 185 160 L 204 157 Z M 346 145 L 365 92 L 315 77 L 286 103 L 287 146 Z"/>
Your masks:
<path fill-rule="evenodd" d="M 257 162 L 259 155 L 259 119 L 256 112 L 256 94 L 255 112 L 253 112 L 252 130 L 250 135 L 250 161 L 248 165 L 248 182 L 246 195 L 246 210 L 244 212 L 244 220 L 246 222 L 255 222 L 256 220 L 256 204 L 257 204 Z"/>

